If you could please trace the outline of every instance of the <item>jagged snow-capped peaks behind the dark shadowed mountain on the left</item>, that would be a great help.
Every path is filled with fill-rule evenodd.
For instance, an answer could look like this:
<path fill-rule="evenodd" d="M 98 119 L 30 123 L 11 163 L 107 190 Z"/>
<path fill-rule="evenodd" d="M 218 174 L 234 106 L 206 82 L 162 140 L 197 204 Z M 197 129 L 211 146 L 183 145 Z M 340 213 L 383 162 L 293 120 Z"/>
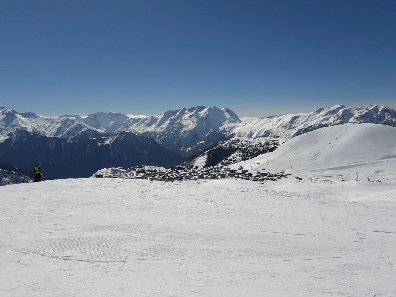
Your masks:
<path fill-rule="evenodd" d="M 17 129 L 25 129 L 38 135 L 74 141 L 129 131 L 152 137 L 160 145 L 187 157 L 227 140 L 224 133 L 219 133 L 220 127 L 240 122 L 228 108 L 203 106 L 169 110 L 159 116 L 132 117 L 116 112 L 96 112 L 86 117 L 42 117 L 32 112 L 21 113 L 2 107 L 0 137 Z"/>

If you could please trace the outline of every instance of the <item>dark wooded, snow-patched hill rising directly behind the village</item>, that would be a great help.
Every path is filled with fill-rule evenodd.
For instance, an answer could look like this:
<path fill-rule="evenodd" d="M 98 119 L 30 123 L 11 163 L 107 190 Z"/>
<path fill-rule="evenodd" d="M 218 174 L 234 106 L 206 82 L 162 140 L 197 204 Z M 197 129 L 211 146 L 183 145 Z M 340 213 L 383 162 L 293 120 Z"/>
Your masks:
<path fill-rule="evenodd" d="M 234 164 L 249 160 L 260 154 L 274 151 L 286 140 L 261 137 L 246 139 L 233 137 L 228 141 L 222 141 L 217 145 L 200 152 L 180 164 L 185 168 L 203 168 L 216 166 L 217 164 Z"/>

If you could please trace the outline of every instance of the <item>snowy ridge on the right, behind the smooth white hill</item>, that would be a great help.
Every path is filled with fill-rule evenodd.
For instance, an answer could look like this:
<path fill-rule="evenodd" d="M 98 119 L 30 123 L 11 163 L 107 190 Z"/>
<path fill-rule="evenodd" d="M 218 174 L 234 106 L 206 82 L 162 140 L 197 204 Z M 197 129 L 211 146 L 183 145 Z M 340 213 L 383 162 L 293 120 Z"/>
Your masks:
<path fill-rule="evenodd" d="M 292 138 L 318 128 L 346 123 L 384 124 L 396 127 L 396 111 L 385 106 L 370 105 L 347 108 L 336 105 L 314 112 L 286 114 L 259 118 L 253 122 L 225 125 L 221 131 L 227 135 L 257 138 Z"/>

